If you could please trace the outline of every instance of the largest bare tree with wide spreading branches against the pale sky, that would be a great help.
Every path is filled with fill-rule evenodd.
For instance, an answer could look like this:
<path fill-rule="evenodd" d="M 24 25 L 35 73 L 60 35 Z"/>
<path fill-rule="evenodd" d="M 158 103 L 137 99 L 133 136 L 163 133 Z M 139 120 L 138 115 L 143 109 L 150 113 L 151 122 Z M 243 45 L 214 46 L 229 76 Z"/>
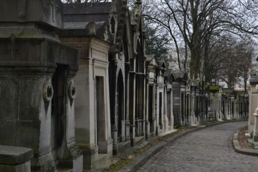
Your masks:
<path fill-rule="evenodd" d="M 190 73 L 196 78 L 206 40 L 231 33 L 244 37 L 257 34 L 257 3 L 251 0 L 161 0 L 156 12 L 147 13 L 176 40 L 180 32 L 191 52 Z M 176 40 L 177 41 L 177 40 Z"/>

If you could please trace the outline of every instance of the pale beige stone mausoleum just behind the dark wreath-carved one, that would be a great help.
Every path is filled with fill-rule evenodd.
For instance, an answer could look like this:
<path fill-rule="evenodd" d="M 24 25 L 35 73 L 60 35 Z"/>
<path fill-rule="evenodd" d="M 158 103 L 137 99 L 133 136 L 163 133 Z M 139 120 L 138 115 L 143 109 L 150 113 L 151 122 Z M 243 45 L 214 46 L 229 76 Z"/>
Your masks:
<path fill-rule="evenodd" d="M 67 14 L 60 40 L 80 50 L 75 100 L 75 141 L 83 153 L 84 169 L 98 167 L 112 158 L 108 54 L 111 47 L 105 22 L 77 22 Z"/>

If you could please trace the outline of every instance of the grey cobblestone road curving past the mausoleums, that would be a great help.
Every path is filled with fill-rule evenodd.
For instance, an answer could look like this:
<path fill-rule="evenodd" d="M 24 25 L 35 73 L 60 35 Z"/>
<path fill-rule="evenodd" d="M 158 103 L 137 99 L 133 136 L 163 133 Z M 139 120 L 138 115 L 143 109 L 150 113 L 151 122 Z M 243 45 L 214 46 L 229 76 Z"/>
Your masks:
<path fill-rule="evenodd" d="M 247 121 L 207 127 L 169 143 L 137 172 L 258 172 L 258 157 L 236 153 L 230 138 Z"/>

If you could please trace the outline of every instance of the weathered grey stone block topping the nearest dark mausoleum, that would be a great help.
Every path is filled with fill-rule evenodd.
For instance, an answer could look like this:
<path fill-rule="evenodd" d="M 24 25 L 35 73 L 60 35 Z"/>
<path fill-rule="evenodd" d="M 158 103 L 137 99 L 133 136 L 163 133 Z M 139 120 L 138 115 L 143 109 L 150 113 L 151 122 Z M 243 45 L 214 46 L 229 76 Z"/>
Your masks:
<path fill-rule="evenodd" d="M 0 22 L 39 22 L 63 28 L 61 0 L 1 0 Z"/>

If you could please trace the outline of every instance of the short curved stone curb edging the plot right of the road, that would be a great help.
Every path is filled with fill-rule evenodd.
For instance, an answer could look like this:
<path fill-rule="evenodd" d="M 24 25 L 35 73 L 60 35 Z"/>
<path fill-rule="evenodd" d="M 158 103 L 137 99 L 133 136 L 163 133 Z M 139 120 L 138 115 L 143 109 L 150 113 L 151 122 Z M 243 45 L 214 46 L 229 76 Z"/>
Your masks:
<path fill-rule="evenodd" d="M 258 150 L 241 148 L 241 146 L 238 143 L 238 133 L 239 130 L 237 130 L 233 135 L 233 147 L 235 152 L 258 157 Z"/>

